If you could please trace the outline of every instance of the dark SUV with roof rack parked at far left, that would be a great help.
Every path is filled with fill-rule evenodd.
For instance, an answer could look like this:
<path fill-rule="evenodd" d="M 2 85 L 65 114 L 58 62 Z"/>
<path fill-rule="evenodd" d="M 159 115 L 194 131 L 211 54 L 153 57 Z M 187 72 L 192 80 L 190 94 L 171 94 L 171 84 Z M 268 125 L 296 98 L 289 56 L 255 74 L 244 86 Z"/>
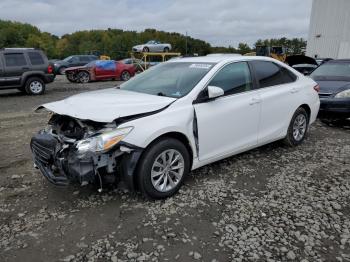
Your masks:
<path fill-rule="evenodd" d="M 45 84 L 54 81 L 53 66 L 43 51 L 34 48 L 0 49 L 0 90 L 17 88 L 41 95 Z"/>

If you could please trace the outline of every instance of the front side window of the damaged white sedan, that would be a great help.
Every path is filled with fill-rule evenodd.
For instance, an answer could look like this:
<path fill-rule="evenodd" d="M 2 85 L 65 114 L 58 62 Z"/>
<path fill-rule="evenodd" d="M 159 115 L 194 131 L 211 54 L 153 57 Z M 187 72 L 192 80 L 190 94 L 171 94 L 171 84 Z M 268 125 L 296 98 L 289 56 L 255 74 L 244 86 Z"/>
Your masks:
<path fill-rule="evenodd" d="M 248 64 L 238 62 L 226 65 L 214 76 L 209 85 L 222 88 L 225 95 L 251 90 L 253 84 Z"/>

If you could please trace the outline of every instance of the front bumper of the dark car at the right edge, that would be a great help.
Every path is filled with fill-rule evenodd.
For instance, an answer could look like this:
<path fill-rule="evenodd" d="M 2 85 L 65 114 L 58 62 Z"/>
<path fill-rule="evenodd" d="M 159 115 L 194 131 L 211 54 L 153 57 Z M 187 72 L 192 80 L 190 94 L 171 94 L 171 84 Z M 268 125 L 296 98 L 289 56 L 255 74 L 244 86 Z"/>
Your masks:
<path fill-rule="evenodd" d="M 350 98 L 321 98 L 320 118 L 349 118 Z"/>

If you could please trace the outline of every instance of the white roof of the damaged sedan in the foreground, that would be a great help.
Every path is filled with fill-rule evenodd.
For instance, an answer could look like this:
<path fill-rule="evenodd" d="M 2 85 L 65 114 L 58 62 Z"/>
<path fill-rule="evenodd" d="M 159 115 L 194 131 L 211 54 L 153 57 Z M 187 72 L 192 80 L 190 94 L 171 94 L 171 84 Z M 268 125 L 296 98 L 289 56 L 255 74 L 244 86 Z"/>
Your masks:
<path fill-rule="evenodd" d="M 190 63 L 220 63 L 220 62 L 236 62 L 236 61 L 251 61 L 261 60 L 276 62 L 276 59 L 265 56 L 232 56 L 232 55 L 220 55 L 220 56 L 197 56 L 197 57 L 183 57 L 174 60 L 169 60 L 171 63 L 190 62 Z"/>

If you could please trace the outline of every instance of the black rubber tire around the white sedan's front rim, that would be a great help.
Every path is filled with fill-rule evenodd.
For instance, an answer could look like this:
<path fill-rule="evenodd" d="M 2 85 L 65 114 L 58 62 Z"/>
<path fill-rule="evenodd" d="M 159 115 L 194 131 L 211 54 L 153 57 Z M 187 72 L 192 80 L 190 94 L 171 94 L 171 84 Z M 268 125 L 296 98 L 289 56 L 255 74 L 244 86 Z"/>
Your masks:
<path fill-rule="evenodd" d="M 152 183 L 151 172 L 152 172 L 152 167 L 156 162 L 156 160 L 158 159 L 158 157 L 160 157 L 160 154 L 164 153 L 167 150 L 175 150 L 177 153 L 181 154 L 183 158 L 183 163 L 184 163 L 183 173 L 182 173 L 182 177 L 178 179 L 178 181 L 176 181 L 176 185 L 173 188 L 169 189 L 166 192 L 161 192 L 154 187 Z M 190 170 L 190 154 L 186 146 L 177 139 L 169 138 L 169 137 L 162 138 L 156 141 L 155 143 L 151 144 L 143 153 L 139 161 L 137 172 L 136 172 L 138 189 L 141 191 L 142 195 L 145 196 L 146 198 L 162 199 L 162 198 L 170 197 L 180 189 L 185 177 L 189 173 L 189 170 Z M 173 178 L 175 178 L 175 176 Z M 176 178 L 174 180 L 176 180 Z"/>

